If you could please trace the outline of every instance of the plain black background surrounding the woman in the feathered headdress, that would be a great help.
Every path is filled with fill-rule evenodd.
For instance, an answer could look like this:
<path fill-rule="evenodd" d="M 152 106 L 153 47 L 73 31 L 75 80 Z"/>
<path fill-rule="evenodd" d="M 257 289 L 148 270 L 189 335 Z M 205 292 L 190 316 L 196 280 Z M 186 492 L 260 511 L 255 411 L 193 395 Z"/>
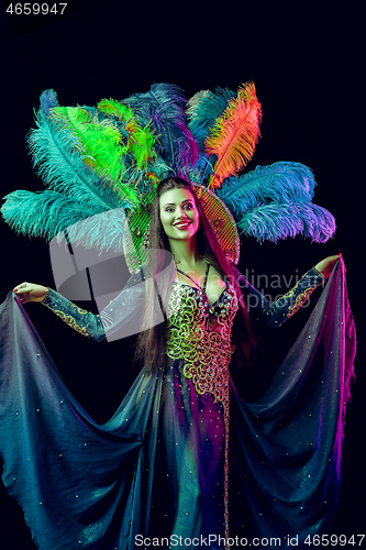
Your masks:
<path fill-rule="evenodd" d="M 200 89 L 236 89 L 254 80 L 264 116 L 262 140 L 248 168 L 276 161 L 310 166 L 318 182 L 314 202 L 335 216 L 337 231 L 326 244 L 300 237 L 263 245 L 243 239 L 240 268 L 255 277 L 289 277 L 342 252 L 362 343 L 364 46 L 362 14 L 352 3 L 198 1 L 189 6 L 86 0 L 68 2 L 62 18 L 43 19 L 10 16 L 8 6 L 3 3 L 0 14 L 1 196 L 15 189 L 43 188 L 32 169 L 24 138 L 44 89 L 54 88 L 60 105 L 92 106 L 102 98 L 123 99 L 147 91 L 158 81 L 179 85 L 189 98 Z M 16 237 L 4 223 L 0 231 L 2 299 L 22 280 L 54 286 L 48 245 Z M 279 331 L 265 331 L 260 378 L 266 380 L 278 366 L 274 349 L 279 362 L 319 294 L 318 289 L 310 307 Z M 26 311 L 70 389 L 97 421 L 106 421 L 134 377 L 129 366 L 133 339 L 97 344 L 70 331 L 46 308 L 30 304 Z M 332 528 L 339 535 L 364 530 L 363 369 L 359 350 L 345 429 L 343 487 Z M 239 386 L 243 380 L 237 377 Z M 0 546 L 1 550 L 35 548 L 22 510 L 2 486 Z"/>

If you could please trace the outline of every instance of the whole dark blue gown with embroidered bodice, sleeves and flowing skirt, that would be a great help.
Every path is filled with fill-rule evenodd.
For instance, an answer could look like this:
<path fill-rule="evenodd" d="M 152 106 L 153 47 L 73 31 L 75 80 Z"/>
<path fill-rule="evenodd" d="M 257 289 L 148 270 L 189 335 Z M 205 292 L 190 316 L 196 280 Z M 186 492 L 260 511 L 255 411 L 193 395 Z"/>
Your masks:
<path fill-rule="evenodd" d="M 237 277 L 253 319 L 274 327 L 291 317 L 323 280 L 311 270 L 290 293 L 270 305 L 240 274 Z M 342 280 L 341 275 L 337 280 Z M 44 305 L 73 329 L 101 340 L 133 319 L 142 304 L 143 289 L 142 271 L 100 316 L 78 308 L 55 290 L 49 290 Z M 329 299 L 324 296 L 320 309 Z M 344 295 L 340 297 L 343 299 Z M 12 298 L 8 302 L 9 310 L 15 308 L 16 317 L 16 304 Z M 309 455 L 309 442 L 304 443 L 302 437 L 295 444 L 296 450 L 291 450 L 299 428 L 298 417 L 284 422 L 285 432 L 273 429 L 284 416 L 284 399 L 287 408 L 288 403 L 293 403 L 293 385 L 306 384 L 299 365 L 308 359 L 288 365 L 284 377 L 269 391 L 269 397 L 253 405 L 243 404 L 229 375 L 236 311 L 237 299 L 229 282 L 215 304 L 209 304 L 199 288 L 174 284 L 167 364 L 144 369 L 115 415 L 103 426 L 88 417 L 67 391 L 33 329 L 32 339 L 22 346 L 26 369 L 19 366 L 21 374 L 16 376 L 11 370 L 2 375 L 8 388 L 26 387 L 27 392 L 20 404 L 16 399 L 10 404 L 10 397 L 3 402 L 0 411 L 7 409 L 8 414 L 0 436 L 5 432 L 9 411 L 14 407 L 16 429 L 12 426 L 13 443 L 0 437 L 0 450 L 5 464 L 3 481 L 22 505 L 40 549 L 228 548 L 232 534 L 229 501 L 232 479 L 240 484 L 255 518 L 246 521 L 246 535 L 253 531 L 263 536 L 275 530 L 285 536 L 287 531 L 293 532 L 291 529 L 299 532 L 301 525 L 304 536 L 304 529 L 318 532 L 326 525 L 331 509 L 319 512 L 314 518 L 309 508 L 299 519 L 300 503 L 310 506 L 315 491 L 314 485 L 306 487 L 304 480 L 301 483 L 298 480 L 301 475 L 310 477 L 309 471 L 313 469 L 319 476 L 317 491 L 335 494 L 337 482 L 330 480 L 340 460 L 336 464 L 332 459 L 329 461 L 329 457 L 334 457 L 334 430 L 332 437 L 324 436 L 325 443 L 324 438 L 321 442 L 321 453 L 326 448 L 328 458 L 320 460 L 319 453 Z M 23 317 L 19 322 L 24 322 Z M 303 342 L 298 345 L 303 352 Z M 30 361 L 29 354 L 36 358 Z M 19 359 L 18 363 L 21 365 L 22 361 Z M 339 380 L 344 376 L 343 371 Z M 347 376 L 350 381 L 350 373 Z M 285 377 L 287 393 L 282 387 Z M 323 391 L 324 385 L 320 388 Z M 277 395 L 275 405 L 274 395 Z M 344 393 L 342 396 L 346 400 Z M 309 397 L 310 404 L 318 402 L 319 395 L 314 402 Z M 323 402 L 320 415 L 326 405 Z M 334 398 L 329 402 L 334 409 Z M 336 406 L 335 426 L 340 415 Z M 315 444 L 319 415 L 309 418 L 306 439 Z M 330 416 L 328 429 L 329 422 Z M 24 446 L 26 452 L 20 452 Z M 274 475 L 276 461 L 278 475 Z M 277 483 L 278 476 L 281 483 Z"/>

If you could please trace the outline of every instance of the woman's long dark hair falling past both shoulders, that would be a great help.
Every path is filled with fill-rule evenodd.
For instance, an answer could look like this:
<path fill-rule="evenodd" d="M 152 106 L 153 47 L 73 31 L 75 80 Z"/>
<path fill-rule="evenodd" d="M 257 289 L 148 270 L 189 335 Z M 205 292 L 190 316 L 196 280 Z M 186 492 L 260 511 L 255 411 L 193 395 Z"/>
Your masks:
<path fill-rule="evenodd" d="M 239 300 L 239 312 L 235 318 L 233 331 L 234 356 L 240 367 L 251 364 L 255 350 L 255 339 L 252 332 L 251 319 L 233 268 L 221 250 L 203 208 L 192 190 L 191 184 L 180 177 L 166 178 L 159 183 L 152 207 L 147 248 L 154 251 L 154 253 L 149 255 L 146 268 L 146 295 L 143 320 L 144 327 L 151 328 L 138 336 L 135 359 L 149 370 L 153 370 L 156 365 L 163 366 L 166 362 L 165 350 L 168 331 L 165 311 L 171 284 L 175 279 L 175 266 L 171 261 L 171 254 L 167 254 L 166 252 L 170 252 L 170 248 L 169 240 L 160 221 L 159 201 L 163 193 L 170 189 L 188 189 L 195 199 L 200 220 L 199 229 L 196 233 L 198 251 L 222 277 L 226 276 L 234 286 Z M 156 300 L 158 300 L 158 304 Z M 152 307 L 154 304 L 155 307 Z M 157 323 L 156 306 L 159 306 L 164 316 L 164 321 L 159 323 Z"/>

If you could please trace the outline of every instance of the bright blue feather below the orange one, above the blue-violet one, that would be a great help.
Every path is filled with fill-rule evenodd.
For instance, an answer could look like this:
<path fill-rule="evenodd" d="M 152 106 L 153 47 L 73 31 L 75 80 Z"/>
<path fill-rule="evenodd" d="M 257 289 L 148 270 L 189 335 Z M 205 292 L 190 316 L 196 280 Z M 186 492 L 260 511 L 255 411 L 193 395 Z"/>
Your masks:
<path fill-rule="evenodd" d="M 234 218 L 240 219 L 259 205 L 310 202 L 314 186 L 310 168 L 300 163 L 278 162 L 225 179 L 217 195 Z"/>

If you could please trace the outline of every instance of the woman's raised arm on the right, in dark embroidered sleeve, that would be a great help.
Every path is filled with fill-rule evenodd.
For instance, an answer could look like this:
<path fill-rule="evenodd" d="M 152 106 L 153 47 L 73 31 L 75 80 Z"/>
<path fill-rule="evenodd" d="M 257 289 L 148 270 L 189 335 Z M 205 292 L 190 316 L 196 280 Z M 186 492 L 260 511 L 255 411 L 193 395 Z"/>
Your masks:
<path fill-rule="evenodd" d="M 251 317 L 270 327 L 280 327 L 309 299 L 315 288 L 330 277 L 341 254 L 328 256 L 306 273 L 291 290 L 276 301 L 268 300 L 241 274 L 237 282 Z M 239 272 L 237 272 L 239 273 Z"/>

